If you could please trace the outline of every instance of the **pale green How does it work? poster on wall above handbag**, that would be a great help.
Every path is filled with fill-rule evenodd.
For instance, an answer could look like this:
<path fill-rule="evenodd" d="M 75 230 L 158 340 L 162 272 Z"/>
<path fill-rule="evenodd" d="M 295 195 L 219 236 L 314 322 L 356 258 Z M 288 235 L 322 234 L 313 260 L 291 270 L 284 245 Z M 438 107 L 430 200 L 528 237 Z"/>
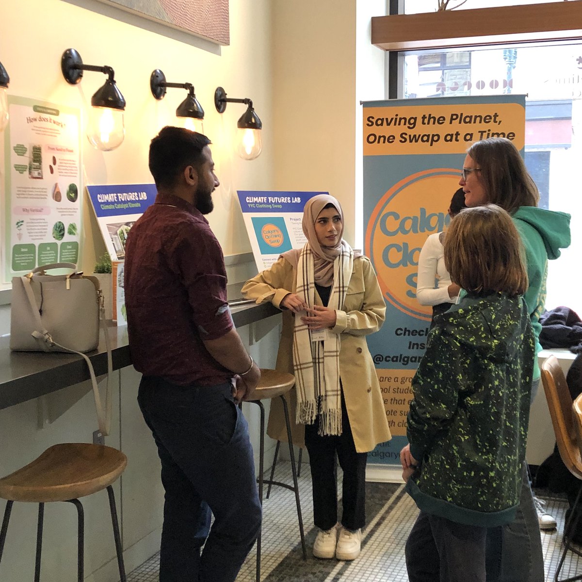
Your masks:
<path fill-rule="evenodd" d="M 77 263 L 83 200 L 79 109 L 8 96 L 3 135 L 2 282 Z"/>

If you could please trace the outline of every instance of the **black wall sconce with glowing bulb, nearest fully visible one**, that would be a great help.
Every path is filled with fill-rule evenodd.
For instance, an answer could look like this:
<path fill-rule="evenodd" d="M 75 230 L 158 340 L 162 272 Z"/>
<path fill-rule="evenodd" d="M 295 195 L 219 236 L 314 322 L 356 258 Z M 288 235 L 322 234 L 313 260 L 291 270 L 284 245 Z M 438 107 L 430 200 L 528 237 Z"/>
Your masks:
<path fill-rule="evenodd" d="M 74 48 L 63 52 L 61 71 L 67 83 L 75 85 L 83 78 L 83 71 L 96 71 L 109 76 L 104 86 L 91 97 L 91 111 L 87 124 L 87 139 L 97 150 L 111 151 L 121 145 L 125 137 L 123 110 L 125 99 L 115 84 L 115 72 L 107 65 L 83 65 Z"/>

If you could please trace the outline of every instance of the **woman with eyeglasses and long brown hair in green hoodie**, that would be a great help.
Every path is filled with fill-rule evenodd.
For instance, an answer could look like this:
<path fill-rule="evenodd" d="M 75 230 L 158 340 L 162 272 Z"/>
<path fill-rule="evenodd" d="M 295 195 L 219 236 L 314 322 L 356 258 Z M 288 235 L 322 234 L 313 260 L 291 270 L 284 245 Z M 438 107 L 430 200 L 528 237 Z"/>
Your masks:
<path fill-rule="evenodd" d="M 538 208 L 540 195 L 512 141 L 491 137 L 477 141 L 467 151 L 459 180 L 469 208 L 497 204 L 509 212 L 519 232 L 527 265 L 528 287 L 524 293 L 536 353 L 540 352 L 540 315 L 544 312 L 548 259 L 560 256 L 570 244 L 570 215 Z M 531 400 L 540 383 L 540 368 L 534 357 Z M 499 582 L 542 582 L 544 561 L 533 493 L 524 464 L 520 507 L 508 526 L 494 528 L 488 540 L 489 563 L 501 555 Z"/>

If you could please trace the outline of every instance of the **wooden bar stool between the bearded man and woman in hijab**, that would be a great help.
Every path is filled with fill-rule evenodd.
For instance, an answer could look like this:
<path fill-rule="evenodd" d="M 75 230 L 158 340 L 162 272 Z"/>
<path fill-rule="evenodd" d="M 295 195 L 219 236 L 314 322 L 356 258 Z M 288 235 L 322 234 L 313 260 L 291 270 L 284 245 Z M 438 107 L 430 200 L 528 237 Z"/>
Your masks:
<path fill-rule="evenodd" d="M 305 535 L 303 533 L 303 517 L 301 516 L 301 502 L 299 501 L 299 485 L 297 484 L 297 471 L 295 469 L 295 456 L 293 452 L 293 440 L 291 437 L 291 425 L 289 424 L 289 410 L 285 394 L 290 391 L 295 385 L 295 377 L 293 374 L 287 372 L 279 372 L 277 370 L 267 370 L 261 368 L 261 380 L 257 388 L 249 394 L 246 402 L 257 404 L 261 409 L 261 437 L 260 437 L 260 453 L 259 453 L 259 470 L 258 470 L 258 495 L 262 504 L 262 488 L 263 484 L 279 485 L 285 487 L 295 493 L 295 505 L 297 507 L 297 520 L 299 520 L 299 534 L 301 536 L 301 547 L 303 548 L 303 559 L 307 560 L 307 549 L 305 546 Z M 291 459 L 291 472 L 293 474 L 293 487 L 281 481 L 274 481 L 271 478 L 268 481 L 264 480 L 264 456 L 265 456 L 265 408 L 261 400 L 271 398 L 281 398 L 283 403 L 283 413 L 285 414 L 285 424 L 287 427 L 287 438 L 289 440 L 289 457 Z M 257 582 L 261 580 L 261 533 L 257 538 Z"/>

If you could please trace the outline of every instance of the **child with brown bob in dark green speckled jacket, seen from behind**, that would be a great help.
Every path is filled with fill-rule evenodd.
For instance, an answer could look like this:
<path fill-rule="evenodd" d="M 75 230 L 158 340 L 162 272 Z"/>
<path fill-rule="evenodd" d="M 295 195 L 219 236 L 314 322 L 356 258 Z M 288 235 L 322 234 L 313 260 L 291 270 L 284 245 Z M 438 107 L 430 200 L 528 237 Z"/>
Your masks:
<path fill-rule="evenodd" d="M 450 223 L 445 264 L 466 295 L 435 317 L 400 455 L 420 509 L 406 544 L 411 582 L 485 582 L 487 531 L 519 505 L 535 354 L 521 255 L 495 204 Z"/>

